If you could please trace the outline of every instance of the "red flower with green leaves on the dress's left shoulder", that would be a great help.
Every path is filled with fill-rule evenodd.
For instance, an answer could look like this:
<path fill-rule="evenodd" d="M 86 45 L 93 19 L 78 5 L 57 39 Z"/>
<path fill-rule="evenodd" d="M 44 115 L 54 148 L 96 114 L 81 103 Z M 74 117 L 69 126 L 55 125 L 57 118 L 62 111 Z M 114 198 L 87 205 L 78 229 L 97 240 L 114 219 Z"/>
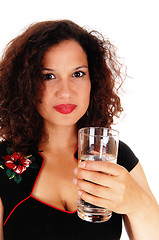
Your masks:
<path fill-rule="evenodd" d="M 21 182 L 21 174 L 27 170 L 28 167 L 36 168 L 36 164 L 32 162 L 33 156 L 22 156 L 20 153 L 12 153 L 7 149 L 8 155 L 0 159 L 0 168 L 6 171 L 9 179 L 14 179 L 16 183 Z"/>

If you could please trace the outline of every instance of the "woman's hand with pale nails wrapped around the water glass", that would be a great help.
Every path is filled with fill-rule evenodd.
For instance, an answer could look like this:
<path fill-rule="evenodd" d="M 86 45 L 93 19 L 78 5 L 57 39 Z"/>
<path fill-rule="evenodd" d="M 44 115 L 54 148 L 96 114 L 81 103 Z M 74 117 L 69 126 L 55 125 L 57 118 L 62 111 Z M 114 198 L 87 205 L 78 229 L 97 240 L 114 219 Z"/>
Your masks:
<path fill-rule="evenodd" d="M 140 210 L 144 190 L 122 166 L 104 161 L 84 161 L 74 169 L 74 183 L 83 200 L 116 213 Z"/>

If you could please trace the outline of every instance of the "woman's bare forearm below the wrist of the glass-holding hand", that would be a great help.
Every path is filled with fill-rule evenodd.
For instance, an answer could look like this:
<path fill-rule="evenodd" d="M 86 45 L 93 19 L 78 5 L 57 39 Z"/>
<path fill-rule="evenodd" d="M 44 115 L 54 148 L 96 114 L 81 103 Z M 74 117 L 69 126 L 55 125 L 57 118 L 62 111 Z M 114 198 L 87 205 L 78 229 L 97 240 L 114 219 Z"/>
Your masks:
<path fill-rule="evenodd" d="M 136 211 L 124 216 L 124 222 L 131 240 L 159 238 L 159 206 L 146 193 Z"/>

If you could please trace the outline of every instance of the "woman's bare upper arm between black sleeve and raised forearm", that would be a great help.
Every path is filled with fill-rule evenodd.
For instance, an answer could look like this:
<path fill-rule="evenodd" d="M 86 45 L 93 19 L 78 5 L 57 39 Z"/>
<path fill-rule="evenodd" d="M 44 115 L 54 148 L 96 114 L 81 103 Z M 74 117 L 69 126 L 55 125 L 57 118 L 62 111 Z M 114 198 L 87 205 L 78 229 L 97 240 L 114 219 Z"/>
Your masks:
<path fill-rule="evenodd" d="M 151 189 L 149 187 L 144 170 L 143 170 L 140 162 L 138 162 L 138 164 L 132 169 L 132 171 L 130 172 L 130 175 L 139 184 L 139 186 L 142 187 L 144 189 L 144 191 L 147 192 L 151 196 L 151 198 L 155 201 L 155 203 L 157 203 L 155 197 L 153 196 L 153 194 L 151 192 Z"/>

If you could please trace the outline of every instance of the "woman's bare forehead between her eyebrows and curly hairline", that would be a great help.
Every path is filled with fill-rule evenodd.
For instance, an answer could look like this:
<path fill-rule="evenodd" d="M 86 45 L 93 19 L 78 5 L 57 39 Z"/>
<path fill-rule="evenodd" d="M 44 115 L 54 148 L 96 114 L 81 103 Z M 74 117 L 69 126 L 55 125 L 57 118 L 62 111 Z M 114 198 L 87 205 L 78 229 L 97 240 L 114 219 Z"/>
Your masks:
<path fill-rule="evenodd" d="M 81 45 L 75 40 L 64 40 L 52 46 L 44 54 L 43 64 L 81 62 L 87 64 L 87 55 Z"/>

